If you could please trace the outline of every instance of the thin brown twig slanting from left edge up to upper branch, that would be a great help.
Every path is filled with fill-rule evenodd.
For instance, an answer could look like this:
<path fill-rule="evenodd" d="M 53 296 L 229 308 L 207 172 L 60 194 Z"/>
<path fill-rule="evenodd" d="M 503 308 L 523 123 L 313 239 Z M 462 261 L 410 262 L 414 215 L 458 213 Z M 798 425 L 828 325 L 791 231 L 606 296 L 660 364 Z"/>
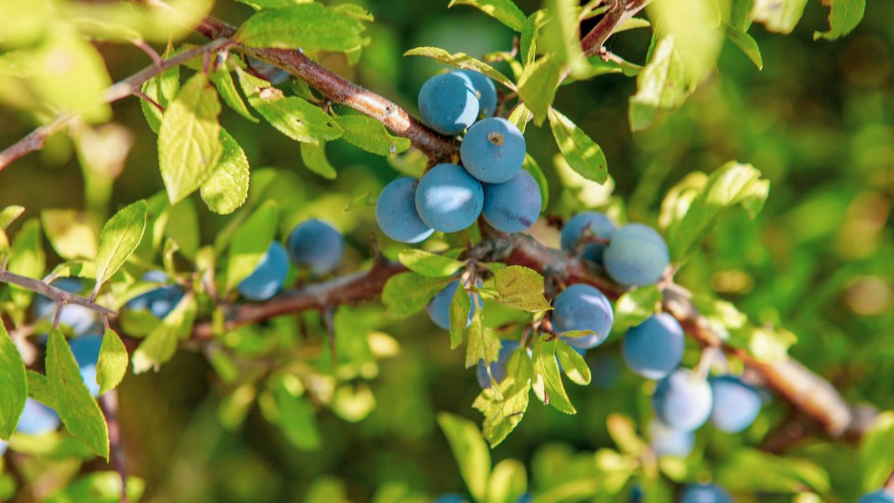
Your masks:
<path fill-rule="evenodd" d="M 155 77 L 157 74 L 164 72 L 165 70 L 169 70 L 174 66 L 184 64 L 197 55 L 201 55 L 206 52 L 214 52 L 218 49 L 226 47 L 230 43 L 232 42 L 227 38 L 219 38 L 207 43 L 204 46 L 193 47 L 191 49 L 173 55 L 172 57 L 161 62 L 161 64 L 151 64 L 146 68 L 140 70 L 139 72 L 134 73 L 130 77 L 114 83 L 112 86 L 105 90 L 105 93 L 103 94 L 103 100 L 105 101 L 105 103 L 112 103 L 114 101 L 118 101 L 119 99 L 135 95 L 139 93 L 139 88 L 145 81 L 148 81 L 152 77 Z M 28 133 L 28 135 L 22 138 L 20 141 L 16 141 L 15 143 L 13 143 L 13 145 L 4 149 L 2 152 L 0 152 L 0 171 L 3 171 L 3 168 L 9 166 L 14 160 L 30 154 L 31 152 L 43 149 L 46 139 L 52 136 L 55 132 L 61 130 L 65 126 L 65 124 L 68 124 L 74 117 L 74 114 L 68 113 L 58 115 L 49 123 L 38 127 L 38 129 Z"/>

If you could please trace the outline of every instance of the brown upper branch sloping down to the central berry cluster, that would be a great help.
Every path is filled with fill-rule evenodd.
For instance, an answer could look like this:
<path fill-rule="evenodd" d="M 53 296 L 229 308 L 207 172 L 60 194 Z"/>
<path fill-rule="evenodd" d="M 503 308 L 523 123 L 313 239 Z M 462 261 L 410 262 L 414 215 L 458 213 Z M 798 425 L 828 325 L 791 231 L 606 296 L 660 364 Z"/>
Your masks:
<path fill-rule="evenodd" d="M 160 8 L 170 8 L 161 2 L 152 4 Z M 236 33 L 236 29 L 231 25 L 210 16 L 201 21 L 196 30 L 207 38 L 231 38 Z M 335 103 L 341 103 L 374 118 L 395 134 L 408 138 L 414 147 L 425 152 L 426 156 L 434 161 L 451 158 L 451 155 L 460 149 L 460 144 L 455 139 L 434 132 L 391 100 L 326 70 L 298 50 L 246 47 L 239 44 L 233 48 L 245 55 L 274 64 L 302 81 L 307 81 L 325 98 Z"/>

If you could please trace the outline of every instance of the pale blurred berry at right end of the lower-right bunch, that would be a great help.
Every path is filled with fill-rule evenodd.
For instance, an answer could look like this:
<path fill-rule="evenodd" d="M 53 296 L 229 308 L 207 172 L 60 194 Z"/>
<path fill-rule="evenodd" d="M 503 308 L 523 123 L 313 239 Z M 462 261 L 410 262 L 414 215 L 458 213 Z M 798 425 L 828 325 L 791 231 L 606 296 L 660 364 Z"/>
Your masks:
<path fill-rule="evenodd" d="M 730 375 L 714 377 L 708 382 L 714 401 L 711 423 L 718 430 L 738 433 L 755 422 L 763 405 L 763 399 L 755 388 Z"/>

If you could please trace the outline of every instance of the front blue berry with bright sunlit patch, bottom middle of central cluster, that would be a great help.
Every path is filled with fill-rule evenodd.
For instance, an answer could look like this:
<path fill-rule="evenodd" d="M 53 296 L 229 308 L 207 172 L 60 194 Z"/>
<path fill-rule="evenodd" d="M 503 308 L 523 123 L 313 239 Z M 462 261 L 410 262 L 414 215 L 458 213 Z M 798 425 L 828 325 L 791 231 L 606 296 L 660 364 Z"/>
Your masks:
<path fill-rule="evenodd" d="M 485 202 L 481 183 L 455 164 L 439 164 L 416 189 L 419 217 L 434 230 L 452 233 L 475 223 Z"/>

